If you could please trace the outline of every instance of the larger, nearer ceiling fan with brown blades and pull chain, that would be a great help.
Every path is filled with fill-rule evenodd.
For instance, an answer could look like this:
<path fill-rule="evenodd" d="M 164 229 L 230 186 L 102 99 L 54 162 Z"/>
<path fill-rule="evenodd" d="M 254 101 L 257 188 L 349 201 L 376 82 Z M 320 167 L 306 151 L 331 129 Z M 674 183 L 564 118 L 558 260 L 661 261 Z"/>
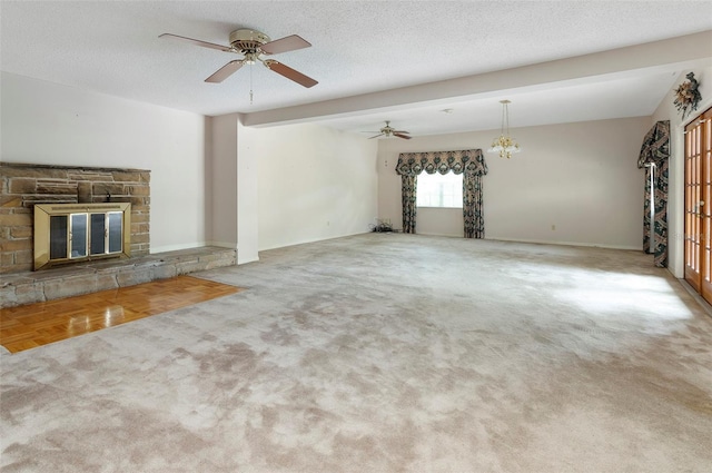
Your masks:
<path fill-rule="evenodd" d="M 283 65 L 274 59 L 263 59 L 261 56 L 278 55 L 280 52 L 294 51 L 296 49 L 308 48 L 312 45 L 297 35 L 291 35 L 281 39 L 271 39 L 260 32 L 246 28 L 235 30 L 230 33 L 230 46 L 216 45 L 214 42 L 201 41 L 199 39 L 187 38 L 184 36 L 162 33 L 159 38 L 174 38 L 182 41 L 192 42 L 194 45 L 201 46 L 204 48 L 217 49 L 218 51 L 235 52 L 243 55 L 241 59 L 235 59 L 220 69 L 215 71 L 210 77 L 205 79 L 206 82 L 221 82 L 233 73 L 237 72 L 239 68 L 245 65 L 254 65 L 259 61 L 267 69 L 277 72 L 280 76 L 286 77 L 289 80 L 304 86 L 313 87 L 318 82 L 304 73 L 291 69 L 288 66 Z"/>

